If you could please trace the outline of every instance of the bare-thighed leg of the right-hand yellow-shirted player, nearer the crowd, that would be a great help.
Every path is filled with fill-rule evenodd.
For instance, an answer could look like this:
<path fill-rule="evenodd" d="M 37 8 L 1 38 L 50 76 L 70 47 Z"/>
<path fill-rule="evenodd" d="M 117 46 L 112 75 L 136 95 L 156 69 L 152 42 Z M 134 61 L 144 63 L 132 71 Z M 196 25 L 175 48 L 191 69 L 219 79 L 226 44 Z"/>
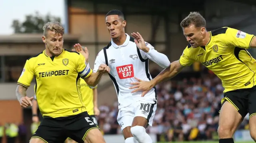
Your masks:
<path fill-rule="evenodd" d="M 219 143 L 234 143 L 232 137 L 247 114 L 248 100 L 245 93 L 240 90 L 227 92 L 224 96 L 218 127 Z"/>

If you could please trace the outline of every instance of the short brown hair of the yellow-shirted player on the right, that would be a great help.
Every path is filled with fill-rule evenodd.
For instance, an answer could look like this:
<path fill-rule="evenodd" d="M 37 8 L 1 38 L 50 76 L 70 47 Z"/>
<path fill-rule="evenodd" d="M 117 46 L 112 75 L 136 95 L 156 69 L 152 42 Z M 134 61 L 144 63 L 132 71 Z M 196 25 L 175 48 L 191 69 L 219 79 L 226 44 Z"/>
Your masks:
<path fill-rule="evenodd" d="M 182 20 L 181 27 L 188 27 L 190 24 L 194 24 L 196 27 L 206 27 L 206 21 L 199 12 L 190 12 L 190 14 Z"/>

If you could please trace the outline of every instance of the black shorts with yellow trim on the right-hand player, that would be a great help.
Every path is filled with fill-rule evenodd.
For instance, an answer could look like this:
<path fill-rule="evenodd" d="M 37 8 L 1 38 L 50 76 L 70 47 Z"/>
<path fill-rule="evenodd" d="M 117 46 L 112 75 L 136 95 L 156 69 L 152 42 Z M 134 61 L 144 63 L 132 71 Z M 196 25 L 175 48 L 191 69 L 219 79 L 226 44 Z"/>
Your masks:
<path fill-rule="evenodd" d="M 256 86 L 238 89 L 224 93 L 221 104 L 228 101 L 244 118 L 249 113 L 249 118 L 256 115 Z"/>

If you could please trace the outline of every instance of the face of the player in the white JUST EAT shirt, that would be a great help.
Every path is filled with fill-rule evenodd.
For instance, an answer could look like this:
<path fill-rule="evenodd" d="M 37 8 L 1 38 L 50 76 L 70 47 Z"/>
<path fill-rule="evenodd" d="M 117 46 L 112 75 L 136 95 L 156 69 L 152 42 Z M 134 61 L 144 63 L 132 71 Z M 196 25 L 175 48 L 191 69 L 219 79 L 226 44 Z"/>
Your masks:
<path fill-rule="evenodd" d="M 116 39 L 124 33 L 126 21 L 122 20 L 118 15 L 111 15 L 106 17 L 106 26 L 111 38 Z"/>

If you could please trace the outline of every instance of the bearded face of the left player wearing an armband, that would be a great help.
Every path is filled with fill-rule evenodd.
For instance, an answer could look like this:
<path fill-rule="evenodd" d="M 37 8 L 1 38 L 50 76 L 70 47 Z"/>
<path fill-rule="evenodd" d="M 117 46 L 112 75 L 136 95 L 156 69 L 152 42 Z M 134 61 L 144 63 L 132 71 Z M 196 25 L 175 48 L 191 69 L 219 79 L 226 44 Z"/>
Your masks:
<path fill-rule="evenodd" d="M 60 55 L 63 48 L 63 37 L 60 33 L 48 31 L 46 37 L 43 36 L 42 39 L 46 44 L 46 49 L 50 52 L 52 56 Z"/>

